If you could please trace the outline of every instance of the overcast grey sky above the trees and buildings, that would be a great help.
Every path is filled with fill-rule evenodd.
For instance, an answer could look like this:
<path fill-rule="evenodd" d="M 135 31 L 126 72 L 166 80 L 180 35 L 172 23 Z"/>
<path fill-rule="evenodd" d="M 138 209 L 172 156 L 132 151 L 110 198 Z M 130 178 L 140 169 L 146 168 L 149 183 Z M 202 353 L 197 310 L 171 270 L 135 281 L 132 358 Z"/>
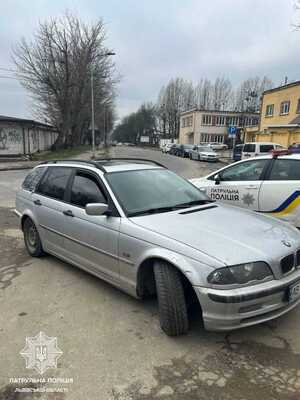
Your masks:
<path fill-rule="evenodd" d="M 39 20 L 66 9 L 84 21 L 102 17 L 107 46 L 122 75 L 117 112 L 156 101 L 172 77 L 196 82 L 222 75 L 234 85 L 267 75 L 277 85 L 300 79 L 300 23 L 293 0 L 1 0 L 0 67 L 13 67 L 11 46 Z M 0 76 L 9 75 L 0 71 Z M 30 117 L 19 83 L 0 78 L 0 114 Z"/>

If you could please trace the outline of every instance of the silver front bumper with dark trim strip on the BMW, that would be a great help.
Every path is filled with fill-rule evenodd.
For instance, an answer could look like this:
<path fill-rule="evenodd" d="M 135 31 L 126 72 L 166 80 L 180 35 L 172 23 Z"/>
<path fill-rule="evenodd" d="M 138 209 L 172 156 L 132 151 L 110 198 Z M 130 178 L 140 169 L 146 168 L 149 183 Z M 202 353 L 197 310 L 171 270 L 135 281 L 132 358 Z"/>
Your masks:
<path fill-rule="evenodd" d="M 277 318 L 300 304 L 289 303 L 288 289 L 300 281 L 300 270 L 280 279 L 238 289 L 211 289 L 195 286 L 204 326 L 227 331 Z"/>

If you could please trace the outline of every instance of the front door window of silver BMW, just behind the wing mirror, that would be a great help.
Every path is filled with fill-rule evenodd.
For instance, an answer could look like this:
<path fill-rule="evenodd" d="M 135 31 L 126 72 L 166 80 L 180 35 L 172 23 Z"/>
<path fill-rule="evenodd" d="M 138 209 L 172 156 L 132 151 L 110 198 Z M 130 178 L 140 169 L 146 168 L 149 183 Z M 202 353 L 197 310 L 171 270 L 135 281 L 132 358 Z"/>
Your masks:
<path fill-rule="evenodd" d="M 85 207 L 88 203 L 107 203 L 107 200 L 93 176 L 77 173 L 71 189 L 71 203 Z"/>

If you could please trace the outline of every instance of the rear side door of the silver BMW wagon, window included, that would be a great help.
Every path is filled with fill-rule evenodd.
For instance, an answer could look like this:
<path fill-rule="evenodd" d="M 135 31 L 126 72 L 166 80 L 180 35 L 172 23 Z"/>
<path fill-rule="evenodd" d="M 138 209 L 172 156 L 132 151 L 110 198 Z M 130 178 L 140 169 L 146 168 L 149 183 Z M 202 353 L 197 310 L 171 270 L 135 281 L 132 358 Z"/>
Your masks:
<path fill-rule="evenodd" d="M 47 172 L 32 194 L 34 214 L 46 251 L 65 256 L 63 211 L 65 196 L 72 175 L 72 168 L 49 166 Z"/>

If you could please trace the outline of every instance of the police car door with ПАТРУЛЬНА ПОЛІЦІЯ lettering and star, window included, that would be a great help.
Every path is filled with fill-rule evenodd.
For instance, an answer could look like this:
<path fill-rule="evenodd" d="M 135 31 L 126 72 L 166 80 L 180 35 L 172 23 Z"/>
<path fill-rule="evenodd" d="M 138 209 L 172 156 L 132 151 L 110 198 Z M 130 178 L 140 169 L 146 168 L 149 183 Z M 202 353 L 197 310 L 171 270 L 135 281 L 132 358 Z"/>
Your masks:
<path fill-rule="evenodd" d="M 206 193 L 213 200 L 258 210 L 259 191 L 270 161 L 255 158 L 234 164 L 218 174 L 219 180 L 206 188 Z"/>

